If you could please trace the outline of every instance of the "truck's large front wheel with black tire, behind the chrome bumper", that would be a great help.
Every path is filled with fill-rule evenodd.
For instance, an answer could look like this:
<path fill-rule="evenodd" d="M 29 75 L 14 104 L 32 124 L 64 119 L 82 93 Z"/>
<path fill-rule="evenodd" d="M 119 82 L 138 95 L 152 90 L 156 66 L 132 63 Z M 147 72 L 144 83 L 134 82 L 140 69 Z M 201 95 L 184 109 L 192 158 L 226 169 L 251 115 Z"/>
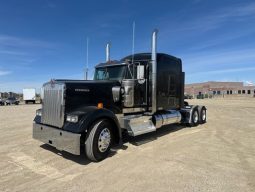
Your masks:
<path fill-rule="evenodd" d="M 102 137 L 102 134 L 105 133 L 105 131 L 110 135 L 110 142 L 107 148 L 102 150 L 102 148 L 99 147 L 99 138 L 100 136 Z M 92 161 L 101 161 L 105 159 L 109 154 L 112 142 L 113 133 L 111 123 L 105 119 L 95 122 L 87 133 L 85 140 L 85 152 L 87 157 Z"/>

